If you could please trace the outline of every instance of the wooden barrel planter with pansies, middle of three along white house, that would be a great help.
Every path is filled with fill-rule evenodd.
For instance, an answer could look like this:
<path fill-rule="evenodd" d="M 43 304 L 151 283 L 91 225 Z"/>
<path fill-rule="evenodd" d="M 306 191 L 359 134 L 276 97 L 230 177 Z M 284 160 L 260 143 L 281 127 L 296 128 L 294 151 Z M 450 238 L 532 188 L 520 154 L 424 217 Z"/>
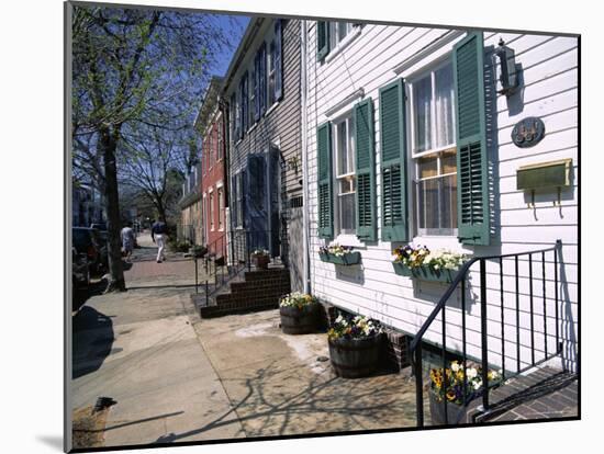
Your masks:
<path fill-rule="evenodd" d="M 378 368 L 382 328 L 378 320 L 360 315 L 335 319 L 327 332 L 329 357 L 336 375 L 365 377 Z"/>

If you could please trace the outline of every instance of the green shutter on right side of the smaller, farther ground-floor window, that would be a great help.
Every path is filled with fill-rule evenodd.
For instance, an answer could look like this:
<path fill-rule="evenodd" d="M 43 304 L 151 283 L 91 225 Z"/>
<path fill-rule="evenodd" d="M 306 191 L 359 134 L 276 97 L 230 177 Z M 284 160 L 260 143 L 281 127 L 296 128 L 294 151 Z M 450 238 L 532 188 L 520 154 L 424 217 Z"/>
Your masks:
<path fill-rule="evenodd" d="M 376 241 L 376 151 L 371 98 L 355 105 L 355 145 L 357 237 L 363 241 Z"/>

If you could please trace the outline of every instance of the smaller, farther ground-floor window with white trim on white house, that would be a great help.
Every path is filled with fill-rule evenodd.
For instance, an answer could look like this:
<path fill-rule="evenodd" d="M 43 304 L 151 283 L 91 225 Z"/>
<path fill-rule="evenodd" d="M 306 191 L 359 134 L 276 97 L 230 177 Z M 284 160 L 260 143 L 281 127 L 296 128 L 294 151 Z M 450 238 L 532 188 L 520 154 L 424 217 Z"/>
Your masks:
<path fill-rule="evenodd" d="M 336 235 L 356 232 L 355 126 L 353 114 L 333 122 Z"/>

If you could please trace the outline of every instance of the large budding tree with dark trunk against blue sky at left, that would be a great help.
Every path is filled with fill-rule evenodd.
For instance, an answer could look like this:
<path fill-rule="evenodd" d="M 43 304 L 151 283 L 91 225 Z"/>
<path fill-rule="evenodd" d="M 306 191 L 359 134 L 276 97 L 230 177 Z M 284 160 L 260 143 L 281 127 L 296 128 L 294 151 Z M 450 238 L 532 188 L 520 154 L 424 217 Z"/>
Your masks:
<path fill-rule="evenodd" d="M 99 184 L 107 203 L 108 290 L 125 290 L 120 248 L 119 154 L 139 125 L 170 134 L 191 121 L 222 50 L 224 19 L 131 8 L 74 5 L 74 168 Z"/>

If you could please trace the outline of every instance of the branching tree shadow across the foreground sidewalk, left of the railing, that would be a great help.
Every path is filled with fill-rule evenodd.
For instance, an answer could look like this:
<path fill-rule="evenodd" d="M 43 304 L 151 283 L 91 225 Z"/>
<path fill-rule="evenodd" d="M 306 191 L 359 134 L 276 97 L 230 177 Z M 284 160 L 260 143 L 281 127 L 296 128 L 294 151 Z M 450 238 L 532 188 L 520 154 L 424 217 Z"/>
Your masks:
<path fill-rule="evenodd" d="M 332 376 L 325 379 L 317 375 L 307 382 L 300 382 L 292 393 L 286 393 L 284 381 L 295 379 L 298 375 L 298 365 L 282 368 L 273 362 L 257 370 L 249 378 L 223 377 L 225 383 L 243 385 L 247 390 L 245 396 L 232 398 L 233 407 L 210 423 L 182 433 L 168 433 L 157 439 L 156 443 L 178 443 L 182 439 L 237 422 L 244 424 L 247 436 L 334 431 L 334 427 L 327 425 L 333 419 L 339 419 L 338 432 L 374 429 L 365 424 L 368 420 L 383 421 L 383 428 L 389 429 L 415 425 L 415 395 L 411 386 L 406 396 L 401 396 L 400 388 L 379 386 L 381 382 L 378 376 L 369 379 Z M 390 375 L 398 379 L 398 375 Z"/>

